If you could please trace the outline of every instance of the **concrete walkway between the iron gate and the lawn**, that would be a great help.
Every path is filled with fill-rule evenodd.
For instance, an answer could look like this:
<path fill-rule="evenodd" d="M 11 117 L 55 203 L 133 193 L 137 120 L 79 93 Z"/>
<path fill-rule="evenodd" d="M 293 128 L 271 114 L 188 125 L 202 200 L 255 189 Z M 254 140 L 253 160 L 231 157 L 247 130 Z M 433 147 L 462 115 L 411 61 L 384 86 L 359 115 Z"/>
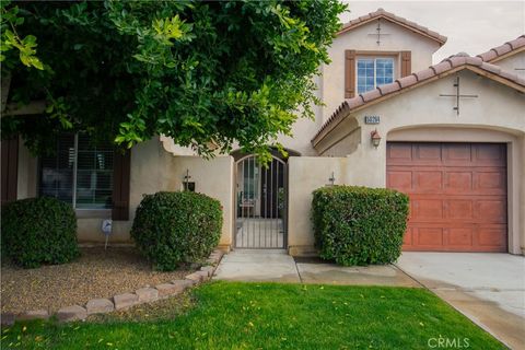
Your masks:
<path fill-rule="evenodd" d="M 283 249 L 236 249 L 222 258 L 213 279 L 319 284 L 421 287 L 392 265 L 341 267 L 334 264 L 295 261 Z"/>

